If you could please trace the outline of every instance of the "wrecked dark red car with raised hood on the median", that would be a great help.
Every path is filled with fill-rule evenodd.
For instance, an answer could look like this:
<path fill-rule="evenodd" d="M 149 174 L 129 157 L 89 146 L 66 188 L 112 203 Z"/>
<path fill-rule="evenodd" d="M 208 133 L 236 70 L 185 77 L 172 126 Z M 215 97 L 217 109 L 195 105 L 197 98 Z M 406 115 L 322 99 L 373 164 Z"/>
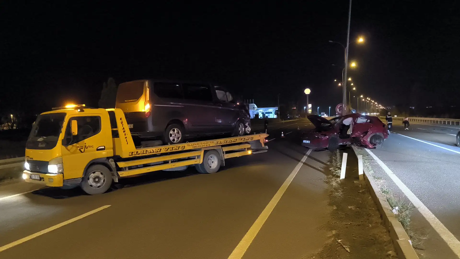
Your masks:
<path fill-rule="evenodd" d="M 375 116 L 352 113 L 331 120 L 318 115 L 308 119 L 315 129 L 302 134 L 302 146 L 335 151 L 340 145 L 353 144 L 366 148 L 381 147 L 388 137 L 386 125 Z"/>

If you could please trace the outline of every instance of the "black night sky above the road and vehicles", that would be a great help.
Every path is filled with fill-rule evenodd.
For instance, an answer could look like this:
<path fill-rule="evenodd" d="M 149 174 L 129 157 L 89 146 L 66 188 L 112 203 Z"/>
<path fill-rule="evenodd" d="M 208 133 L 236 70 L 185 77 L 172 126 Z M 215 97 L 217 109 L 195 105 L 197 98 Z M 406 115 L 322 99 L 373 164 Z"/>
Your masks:
<path fill-rule="evenodd" d="M 146 4 L 0 2 L 0 109 L 96 105 L 102 83 L 148 77 L 220 82 L 259 106 L 335 106 L 348 1 Z M 423 1 L 422 1 L 423 2 Z M 350 72 L 384 105 L 455 105 L 458 1 L 355 0 Z M 357 46 L 358 35 L 366 44 Z M 323 111 L 326 111 L 323 109 Z M 321 112 L 321 111 L 320 111 Z"/>

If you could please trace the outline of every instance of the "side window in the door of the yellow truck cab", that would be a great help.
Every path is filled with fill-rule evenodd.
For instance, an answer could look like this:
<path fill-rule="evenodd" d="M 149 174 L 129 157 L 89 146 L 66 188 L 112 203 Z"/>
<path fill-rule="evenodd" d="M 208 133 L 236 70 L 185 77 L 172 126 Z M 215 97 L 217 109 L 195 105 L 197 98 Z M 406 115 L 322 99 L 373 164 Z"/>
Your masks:
<path fill-rule="evenodd" d="M 77 135 L 72 136 L 70 130 L 71 121 L 76 120 L 78 124 Z M 78 143 L 84 141 L 89 137 L 92 137 L 98 134 L 101 131 L 101 117 L 99 116 L 81 116 L 81 117 L 72 117 L 67 123 L 65 129 L 65 141 L 67 143 Z"/>

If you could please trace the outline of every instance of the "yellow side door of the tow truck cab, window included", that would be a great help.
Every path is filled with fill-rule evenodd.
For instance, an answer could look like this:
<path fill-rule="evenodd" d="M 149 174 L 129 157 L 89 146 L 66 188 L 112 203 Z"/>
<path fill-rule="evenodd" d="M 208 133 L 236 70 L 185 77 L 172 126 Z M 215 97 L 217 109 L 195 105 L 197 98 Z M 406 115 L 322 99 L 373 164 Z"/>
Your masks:
<path fill-rule="evenodd" d="M 71 121 L 78 124 L 77 135 L 72 136 Z M 101 114 L 81 114 L 67 119 L 62 140 L 64 179 L 83 177 L 86 165 L 94 159 L 107 157 L 107 140 L 101 130 Z M 110 145 L 111 146 L 111 145 Z"/>

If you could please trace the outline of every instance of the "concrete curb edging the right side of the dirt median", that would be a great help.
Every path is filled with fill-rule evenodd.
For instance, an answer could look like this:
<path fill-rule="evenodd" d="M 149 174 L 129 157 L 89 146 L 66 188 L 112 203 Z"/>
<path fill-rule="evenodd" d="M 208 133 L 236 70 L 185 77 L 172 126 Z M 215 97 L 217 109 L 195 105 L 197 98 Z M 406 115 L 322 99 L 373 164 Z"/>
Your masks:
<path fill-rule="evenodd" d="M 353 151 L 358 156 L 357 147 L 353 147 Z M 374 181 L 374 177 L 369 173 L 366 166 L 363 166 L 364 181 L 369 187 L 369 192 L 374 200 L 380 215 L 385 223 L 385 227 L 390 232 L 391 241 L 396 249 L 399 259 L 419 259 L 415 253 L 412 244 L 410 243 L 409 235 L 403 228 L 403 225 L 397 220 L 395 214 L 391 211 L 391 206 L 388 204 L 385 196 L 380 191 L 379 186 Z"/>

